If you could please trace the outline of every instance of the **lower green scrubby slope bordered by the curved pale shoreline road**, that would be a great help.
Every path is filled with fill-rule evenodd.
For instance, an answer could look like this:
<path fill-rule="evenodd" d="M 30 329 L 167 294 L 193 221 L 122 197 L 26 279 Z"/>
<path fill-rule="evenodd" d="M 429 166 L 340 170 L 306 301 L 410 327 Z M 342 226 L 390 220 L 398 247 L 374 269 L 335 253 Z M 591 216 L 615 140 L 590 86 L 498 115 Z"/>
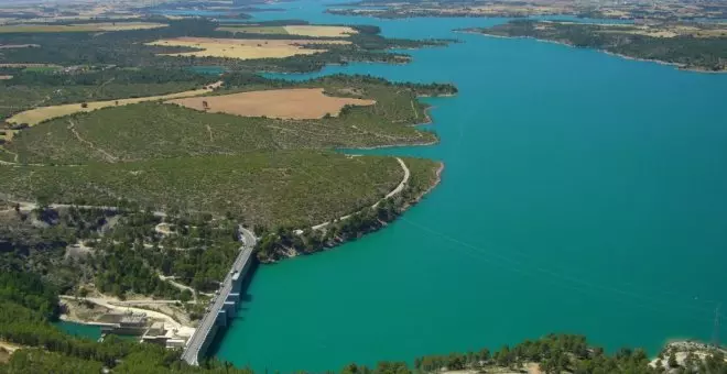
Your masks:
<path fill-rule="evenodd" d="M 391 157 L 317 151 L 152 160 L 85 166 L 0 166 L 0 190 L 18 199 L 230 211 L 256 223 L 318 223 L 370 206 L 403 172 Z"/>

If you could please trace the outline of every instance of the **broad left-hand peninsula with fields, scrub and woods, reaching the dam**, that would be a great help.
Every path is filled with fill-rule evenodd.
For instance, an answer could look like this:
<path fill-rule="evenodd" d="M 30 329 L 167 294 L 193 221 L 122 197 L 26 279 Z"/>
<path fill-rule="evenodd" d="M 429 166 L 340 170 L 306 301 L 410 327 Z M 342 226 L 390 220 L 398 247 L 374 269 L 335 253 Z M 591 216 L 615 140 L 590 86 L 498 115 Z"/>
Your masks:
<path fill-rule="evenodd" d="M 335 150 L 436 143 L 416 128 L 430 121 L 419 97 L 453 85 L 259 73 L 401 64 L 389 48 L 444 42 L 299 20 L 100 19 L 0 24 L 0 268 L 59 295 L 63 310 L 54 299 L 40 318 L 184 345 L 227 302 L 216 293 L 240 248 L 256 265 L 332 248 L 438 182 L 435 161 Z"/>

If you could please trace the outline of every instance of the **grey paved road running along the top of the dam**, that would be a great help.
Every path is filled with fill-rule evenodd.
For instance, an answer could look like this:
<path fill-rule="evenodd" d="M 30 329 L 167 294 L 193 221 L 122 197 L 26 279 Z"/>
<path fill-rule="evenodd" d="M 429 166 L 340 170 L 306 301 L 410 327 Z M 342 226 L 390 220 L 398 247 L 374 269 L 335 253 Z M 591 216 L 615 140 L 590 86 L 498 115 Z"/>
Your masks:
<path fill-rule="evenodd" d="M 217 314 L 219 314 L 219 311 L 223 309 L 225 301 L 227 300 L 227 296 L 232 290 L 232 271 L 240 272 L 252 257 L 251 254 L 252 250 L 254 249 L 257 239 L 252 232 L 242 228 L 241 226 L 239 229 L 240 241 L 242 242 L 240 253 L 235 260 L 231 271 L 227 273 L 225 280 L 223 280 L 219 295 L 213 299 L 214 301 L 209 308 L 209 311 L 207 311 L 207 314 L 202 318 L 202 321 L 199 321 L 199 326 L 195 330 L 192 338 L 189 338 L 187 341 L 187 344 L 184 348 L 184 352 L 182 353 L 182 360 L 186 361 L 191 365 L 199 364 L 198 359 L 202 346 L 204 345 L 205 341 L 207 340 L 207 336 L 215 326 Z"/>

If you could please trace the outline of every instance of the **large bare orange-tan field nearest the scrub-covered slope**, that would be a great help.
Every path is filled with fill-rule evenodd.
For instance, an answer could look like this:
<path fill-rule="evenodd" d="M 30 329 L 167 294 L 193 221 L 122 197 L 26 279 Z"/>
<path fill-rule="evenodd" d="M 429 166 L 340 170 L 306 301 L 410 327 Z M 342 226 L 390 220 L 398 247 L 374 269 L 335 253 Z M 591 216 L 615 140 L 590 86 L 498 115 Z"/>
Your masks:
<path fill-rule="evenodd" d="M 326 114 L 337 117 L 344 106 L 372 106 L 376 103 L 373 100 L 326 96 L 323 88 L 274 89 L 195 97 L 167 102 L 214 113 L 295 120 L 321 119 Z"/>

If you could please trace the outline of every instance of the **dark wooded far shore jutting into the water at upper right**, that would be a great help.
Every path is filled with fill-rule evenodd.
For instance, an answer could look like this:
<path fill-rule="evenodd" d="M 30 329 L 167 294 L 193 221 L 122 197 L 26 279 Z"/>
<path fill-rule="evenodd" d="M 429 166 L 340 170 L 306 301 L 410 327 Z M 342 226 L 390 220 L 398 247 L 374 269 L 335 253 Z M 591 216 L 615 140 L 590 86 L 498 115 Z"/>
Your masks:
<path fill-rule="evenodd" d="M 518 20 L 469 31 L 497 36 L 555 41 L 628 57 L 676 64 L 687 69 L 727 70 L 727 30 L 712 29 L 714 28 L 704 25 L 679 28 L 664 24 L 644 30 L 634 25 Z M 698 35 L 699 30 L 705 31 L 704 35 Z"/>

